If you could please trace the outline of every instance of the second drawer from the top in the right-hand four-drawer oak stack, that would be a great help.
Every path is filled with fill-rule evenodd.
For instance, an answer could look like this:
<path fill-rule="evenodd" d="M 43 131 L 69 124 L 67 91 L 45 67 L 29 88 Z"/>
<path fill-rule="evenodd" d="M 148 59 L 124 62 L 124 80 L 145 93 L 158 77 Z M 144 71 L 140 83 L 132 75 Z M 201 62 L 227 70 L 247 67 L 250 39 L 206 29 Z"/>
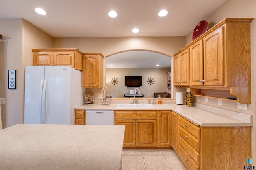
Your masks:
<path fill-rule="evenodd" d="M 198 139 L 196 139 L 193 135 L 188 133 L 182 127 L 179 127 L 179 135 L 194 149 L 196 149 L 196 151 L 200 152 L 200 141 Z"/>

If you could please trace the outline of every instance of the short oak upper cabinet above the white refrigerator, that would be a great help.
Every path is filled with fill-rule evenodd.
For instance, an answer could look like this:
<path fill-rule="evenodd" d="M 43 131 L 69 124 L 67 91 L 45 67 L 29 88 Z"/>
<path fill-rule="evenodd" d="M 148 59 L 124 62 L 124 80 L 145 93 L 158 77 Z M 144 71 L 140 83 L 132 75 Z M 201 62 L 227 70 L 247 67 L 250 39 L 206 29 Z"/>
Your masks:
<path fill-rule="evenodd" d="M 71 66 L 82 71 L 82 53 L 78 49 L 32 49 L 34 66 Z"/>

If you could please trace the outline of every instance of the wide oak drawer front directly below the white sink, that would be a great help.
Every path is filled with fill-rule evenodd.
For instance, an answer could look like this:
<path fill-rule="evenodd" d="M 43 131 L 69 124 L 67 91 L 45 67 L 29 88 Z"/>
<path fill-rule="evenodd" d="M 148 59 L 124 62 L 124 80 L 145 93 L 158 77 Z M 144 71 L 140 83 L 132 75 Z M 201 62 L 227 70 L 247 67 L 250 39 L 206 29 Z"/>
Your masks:
<path fill-rule="evenodd" d="M 115 119 L 156 119 L 156 111 L 131 110 L 115 111 Z"/>

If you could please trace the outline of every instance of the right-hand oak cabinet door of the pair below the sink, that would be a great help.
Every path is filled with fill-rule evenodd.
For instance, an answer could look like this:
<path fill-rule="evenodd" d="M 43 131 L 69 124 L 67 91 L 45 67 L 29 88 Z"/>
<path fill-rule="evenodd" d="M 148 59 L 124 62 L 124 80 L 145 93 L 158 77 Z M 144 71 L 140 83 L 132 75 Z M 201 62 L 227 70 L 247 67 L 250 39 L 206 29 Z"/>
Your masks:
<path fill-rule="evenodd" d="M 156 120 L 136 120 L 136 146 L 156 146 Z"/>

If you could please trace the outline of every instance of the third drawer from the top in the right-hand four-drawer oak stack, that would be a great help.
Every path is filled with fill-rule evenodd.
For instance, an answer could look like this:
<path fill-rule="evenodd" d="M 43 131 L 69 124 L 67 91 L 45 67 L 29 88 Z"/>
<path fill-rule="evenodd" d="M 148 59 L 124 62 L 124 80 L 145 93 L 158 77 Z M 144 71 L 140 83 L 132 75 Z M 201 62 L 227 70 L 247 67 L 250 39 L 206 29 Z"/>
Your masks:
<path fill-rule="evenodd" d="M 191 158 L 200 165 L 200 154 L 189 145 L 182 137 L 179 137 L 179 144 L 186 152 L 191 156 Z"/>

